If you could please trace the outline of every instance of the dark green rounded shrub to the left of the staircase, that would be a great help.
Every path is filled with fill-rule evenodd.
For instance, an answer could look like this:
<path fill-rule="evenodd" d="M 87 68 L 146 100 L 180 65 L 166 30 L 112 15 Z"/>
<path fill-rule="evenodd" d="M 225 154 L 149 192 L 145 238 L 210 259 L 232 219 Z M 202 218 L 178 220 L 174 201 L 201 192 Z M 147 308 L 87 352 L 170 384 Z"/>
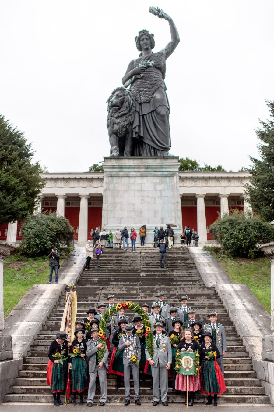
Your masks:
<path fill-rule="evenodd" d="M 28 215 L 21 227 L 21 253 L 28 256 L 44 256 L 55 246 L 69 246 L 74 229 L 69 221 L 56 213 Z"/>

